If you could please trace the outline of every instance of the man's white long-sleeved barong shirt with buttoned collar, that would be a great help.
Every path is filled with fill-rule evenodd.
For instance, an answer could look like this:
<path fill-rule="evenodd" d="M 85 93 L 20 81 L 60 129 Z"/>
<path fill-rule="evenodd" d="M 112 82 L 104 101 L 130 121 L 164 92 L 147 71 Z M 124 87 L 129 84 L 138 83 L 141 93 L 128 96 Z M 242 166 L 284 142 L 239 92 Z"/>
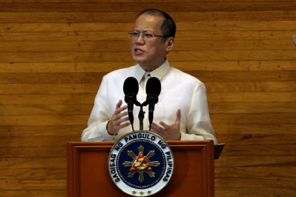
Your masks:
<path fill-rule="evenodd" d="M 129 68 L 112 71 L 105 75 L 94 101 L 94 108 L 88 121 L 88 127 L 82 132 L 81 141 L 115 141 L 124 134 L 131 132 L 131 125 L 120 129 L 118 135 L 107 133 L 106 125 L 115 111 L 118 100 L 124 102 L 123 83 L 126 78 L 133 76 L 139 82 L 137 100 L 143 103 L 146 100 L 146 82 L 150 77 L 157 77 L 161 82 L 161 92 L 158 103 L 155 105 L 153 122 L 160 121 L 173 124 L 176 113 L 181 109 L 181 140 L 217 140 L 210 123 L 207 106 L 205 85 L 194 76 L 186 74 L 169 66 L 168 60 L 154 71 L 147 73 L 139 64 Z M 122 105 L 122 106 L 123 106 Z M 134 105 L 134 128 L 139 128 L 140 107 Z M 144 130 L 149 130 L 148 106 L 143 107 L 145 117 Z"/>

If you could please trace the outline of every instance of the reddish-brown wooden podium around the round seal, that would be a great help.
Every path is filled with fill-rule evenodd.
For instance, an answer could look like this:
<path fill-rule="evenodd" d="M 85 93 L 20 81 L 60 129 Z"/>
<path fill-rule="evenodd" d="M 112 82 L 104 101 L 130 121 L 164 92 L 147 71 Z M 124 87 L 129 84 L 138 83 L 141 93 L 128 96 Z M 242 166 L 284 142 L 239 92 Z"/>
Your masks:
<path fill-rule="evenodd" d="M 114 142 L 72 142 L 68 145 L 67 197 L 130 196 L 108 171 Z M 214 197 L 213 141 L 168 141 L 175 159 L 172 179 L 153 196 Z"/>

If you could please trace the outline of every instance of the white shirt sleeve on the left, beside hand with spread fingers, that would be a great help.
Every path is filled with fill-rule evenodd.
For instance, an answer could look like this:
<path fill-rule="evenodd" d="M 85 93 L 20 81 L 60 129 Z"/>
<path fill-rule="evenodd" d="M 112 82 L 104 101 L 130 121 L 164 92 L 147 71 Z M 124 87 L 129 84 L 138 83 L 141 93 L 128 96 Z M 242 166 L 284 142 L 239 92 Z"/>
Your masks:
<path fill-rule="evenodd" d="M 94 101 L 94 108 L 89 116 L 88 127 L 81 134 L 81 141 L 114 141 L 116 136 L 109 135 L 106 129 L 111 119 L 107 100 L 108 88 L 106 77 L 102 79 Z"/>

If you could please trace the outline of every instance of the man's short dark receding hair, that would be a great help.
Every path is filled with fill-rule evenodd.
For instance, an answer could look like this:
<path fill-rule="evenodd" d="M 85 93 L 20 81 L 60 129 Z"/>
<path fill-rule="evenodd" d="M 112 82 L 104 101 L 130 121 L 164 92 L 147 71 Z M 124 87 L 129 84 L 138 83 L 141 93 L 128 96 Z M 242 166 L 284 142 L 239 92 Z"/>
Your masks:
<path fill-rule="evenodd" d="M 149 15 L 164 17 L 163 24 L 160 27 L 163 35 L 169 35 L 170 37 L 175 38 L 176 24 L 175 24 L 174 20 L 172 19 L 172 17 L 170 17 L 170 15 L 168 15 L 167 13 L 165 13 L 159 9 L 152 9 L 152 8 L 145 9 L 144 11 L 142 11 L 138 15 L 138 17 L 141 16 L 142 14 L 149 14 Z"/>

